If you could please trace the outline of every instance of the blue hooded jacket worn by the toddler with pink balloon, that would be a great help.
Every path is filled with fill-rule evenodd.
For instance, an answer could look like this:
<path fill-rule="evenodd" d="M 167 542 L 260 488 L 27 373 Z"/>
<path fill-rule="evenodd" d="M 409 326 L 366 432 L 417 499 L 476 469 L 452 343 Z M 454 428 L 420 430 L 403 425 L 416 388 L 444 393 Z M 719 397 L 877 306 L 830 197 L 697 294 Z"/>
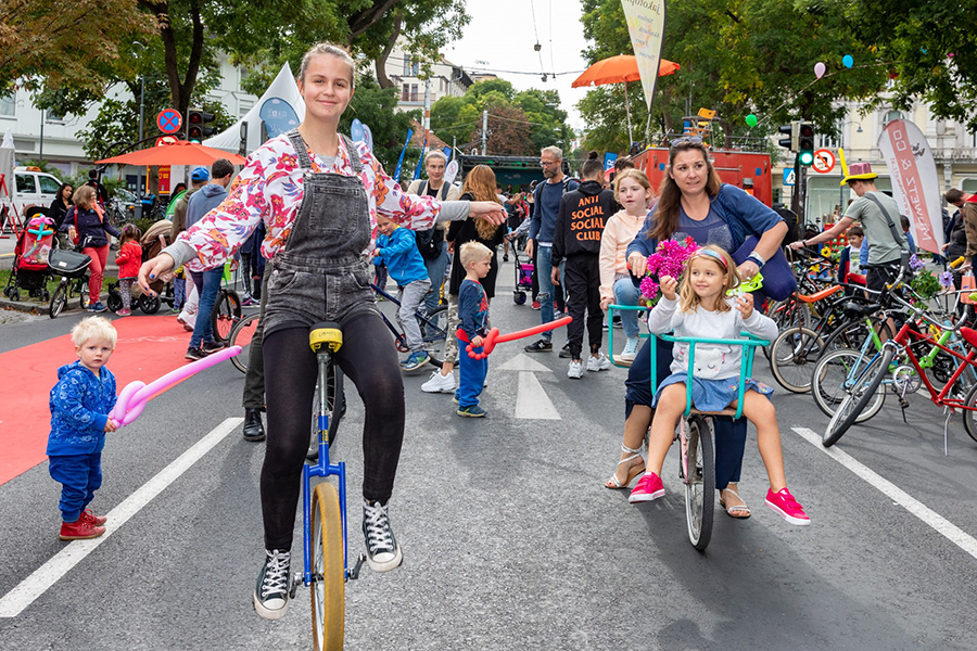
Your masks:
<path fill-rule="evenodd" d="M 81 360 L 58 369 L 51 390 L 48 455 L 91 455 L 105 446 L 105 423 L 115 407 L 115 375 L 102 367 L 101 378 Z"/>

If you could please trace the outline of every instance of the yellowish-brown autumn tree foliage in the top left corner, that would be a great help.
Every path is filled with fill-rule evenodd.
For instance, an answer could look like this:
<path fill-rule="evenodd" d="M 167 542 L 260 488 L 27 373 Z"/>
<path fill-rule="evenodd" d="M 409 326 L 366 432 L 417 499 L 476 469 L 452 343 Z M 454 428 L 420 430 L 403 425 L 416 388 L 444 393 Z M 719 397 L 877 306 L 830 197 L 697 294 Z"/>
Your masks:
<path fill-rule="evenodd" d="M 4 0 L 0 3 L 0 79 L 28 89 L 101 93 L 118 43 L 145 37 L 152 16 L 132 0 Z"/>

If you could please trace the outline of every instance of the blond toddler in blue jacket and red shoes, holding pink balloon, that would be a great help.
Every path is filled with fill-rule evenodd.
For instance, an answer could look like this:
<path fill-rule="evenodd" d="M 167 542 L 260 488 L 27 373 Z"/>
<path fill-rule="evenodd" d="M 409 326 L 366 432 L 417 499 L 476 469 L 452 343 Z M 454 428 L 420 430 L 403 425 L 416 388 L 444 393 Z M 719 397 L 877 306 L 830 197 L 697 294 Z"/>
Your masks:
<path fill-rule="evenodd" d="M 51 390 L 51 434 L 48 470 L 61 488 L 61 539 L 98 538 L 105 518 L 88 509 L 102 485 L 105 432 L 117 425 L 109 417 L 115 407 L 115 375 L 105 365 L 115 350 L 116 332 L 102 317 L 83 319 L 72 329 L 78 361 L 58 369 Z"/>

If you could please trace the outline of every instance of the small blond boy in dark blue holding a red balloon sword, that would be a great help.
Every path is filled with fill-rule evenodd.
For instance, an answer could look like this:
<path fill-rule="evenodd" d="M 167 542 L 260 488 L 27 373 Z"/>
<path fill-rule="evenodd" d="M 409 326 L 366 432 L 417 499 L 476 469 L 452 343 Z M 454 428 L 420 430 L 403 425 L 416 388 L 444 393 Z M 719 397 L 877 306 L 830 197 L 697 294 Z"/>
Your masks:
<path fill-rule="evenodd" d="M 488 275 L 492 266 L 492 251 L 480 242 L 468 242 L 458 253 L 467 275 L 458 289 L 458 359 L 460 380 L 455 401 L 458 416 L 484 418 L 488 412 L 479 407 L 479 394 L 485 385 L 488 358 L 473 359 L 468 356 L 468 344 L 474 353 L 482 347 L 482 337 L 488 334 L 488 297 L 479 279 Z"/>

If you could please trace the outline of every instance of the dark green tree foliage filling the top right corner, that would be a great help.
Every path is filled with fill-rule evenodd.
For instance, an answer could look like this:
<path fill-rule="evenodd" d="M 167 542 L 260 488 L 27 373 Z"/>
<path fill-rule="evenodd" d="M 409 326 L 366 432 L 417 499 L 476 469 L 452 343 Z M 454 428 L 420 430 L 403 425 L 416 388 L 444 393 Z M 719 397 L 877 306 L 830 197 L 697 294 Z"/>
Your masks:
<path fill-rule="evenodd" d="M 857 34 L 891 62 L 897 106 L 922 99 L 938 117 L 977 131 L 977 1 L 854 0 L 847 8 Z"/>

